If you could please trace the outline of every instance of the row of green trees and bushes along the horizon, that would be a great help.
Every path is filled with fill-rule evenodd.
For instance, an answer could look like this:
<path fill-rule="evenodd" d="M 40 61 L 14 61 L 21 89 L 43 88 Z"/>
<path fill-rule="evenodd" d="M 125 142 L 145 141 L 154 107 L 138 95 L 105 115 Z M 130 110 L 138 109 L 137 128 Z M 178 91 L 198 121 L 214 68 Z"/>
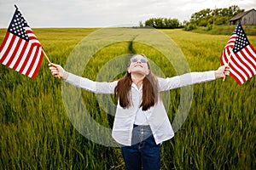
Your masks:
<path fill-rule="evenodd" d="M 140 21 L 140 27 L 150 26 L 160 29 L 184 28 L 189 31 L 195 29 L 196 26 L 205 26 L 210 30 L 212 26 L 228 24 L 233 16 L 241 12 L 244 12 L 244 9 L 239 8 L 237 5 L 230 6 L 229 8 L 207 8 L 192 14 L 190 20 L 184 20 L 183 23 L 177 19 L 160 17 L 148 19 L 144 25 Z"/>

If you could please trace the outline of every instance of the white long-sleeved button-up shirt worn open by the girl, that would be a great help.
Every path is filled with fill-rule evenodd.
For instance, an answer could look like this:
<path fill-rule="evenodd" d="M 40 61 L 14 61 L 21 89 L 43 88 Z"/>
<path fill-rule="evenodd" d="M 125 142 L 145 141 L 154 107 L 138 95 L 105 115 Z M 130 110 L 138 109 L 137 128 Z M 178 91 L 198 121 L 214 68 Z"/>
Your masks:
<path fill-rule="evenodd" d="M 212 80 L 215 80 L 214 71 L 205 71 L 191 72 L 182 76 L 170 78 L 159 77 L 158 83 L 161 92 Z M 118 81 L 94 82 L 90 79 L 68 73 L 67 82 L 96 94 L 114 94 L 114 88 L 116 87 Z M 141 105 L 141 99 L 142 90 L 138 89 L 133 84 L 131 87 L 131 106 L 124 109 L 119 105 L 118 101 L 113 122 L 113 139 L 115 139 L 119 144 L 131 145 L 133 124 L 136 122 L 136 119 L 138 122 L 142 121 L 139 120 L 142 117 L 137 117 L 138 112 L 143 112 L 145 116 L 144 119 L 152 130 L 156 144 L 160 144 L 163 141 L 172 139 L 174 132 L 161 99 L 159 99 L 158 102 L 154 106 L 150 107 L 147 111 L 142 111 L 142 108 L 139 108 Z"/>

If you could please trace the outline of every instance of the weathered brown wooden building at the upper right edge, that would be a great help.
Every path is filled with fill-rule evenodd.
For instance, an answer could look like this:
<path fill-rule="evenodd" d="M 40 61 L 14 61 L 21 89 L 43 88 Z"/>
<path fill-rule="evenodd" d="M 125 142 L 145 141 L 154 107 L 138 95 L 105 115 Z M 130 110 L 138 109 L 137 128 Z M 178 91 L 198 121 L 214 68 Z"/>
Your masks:
<path fill-rule="evenodd" d="M 241 25 L 256 25 L 256 10 L 253 8 L 243 13 L 236 14 L 230 19 L 230 25 L 237 25 L 239 20 L 241 20 Z"/>

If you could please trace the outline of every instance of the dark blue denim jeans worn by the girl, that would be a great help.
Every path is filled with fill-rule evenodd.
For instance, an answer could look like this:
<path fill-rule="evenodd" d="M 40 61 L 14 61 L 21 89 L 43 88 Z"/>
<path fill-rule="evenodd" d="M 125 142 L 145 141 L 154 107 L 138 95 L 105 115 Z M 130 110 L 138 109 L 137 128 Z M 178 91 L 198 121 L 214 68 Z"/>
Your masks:
<path fill-rule="evenodd" d="M 160 144 L 155 144 L 149 126 L 133 127 L 131 146 L 122 146 L 126 170 L 160 169 Z"/>

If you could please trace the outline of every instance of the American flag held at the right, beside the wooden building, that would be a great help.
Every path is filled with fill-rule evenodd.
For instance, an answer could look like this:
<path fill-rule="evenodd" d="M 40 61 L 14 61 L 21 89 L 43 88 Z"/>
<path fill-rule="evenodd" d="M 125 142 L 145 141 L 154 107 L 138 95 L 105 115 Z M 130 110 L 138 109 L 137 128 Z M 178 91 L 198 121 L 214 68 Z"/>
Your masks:
<path fill-rule="evenodd" d="M 241 27 L 241 22 L 224 47 L 221 64 L 230 66 L 230 76 L 239 85 L 256 74 L 256 50 L 248 41 L 247 35 Z"/>

